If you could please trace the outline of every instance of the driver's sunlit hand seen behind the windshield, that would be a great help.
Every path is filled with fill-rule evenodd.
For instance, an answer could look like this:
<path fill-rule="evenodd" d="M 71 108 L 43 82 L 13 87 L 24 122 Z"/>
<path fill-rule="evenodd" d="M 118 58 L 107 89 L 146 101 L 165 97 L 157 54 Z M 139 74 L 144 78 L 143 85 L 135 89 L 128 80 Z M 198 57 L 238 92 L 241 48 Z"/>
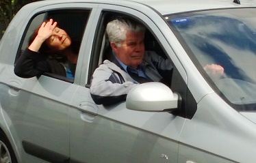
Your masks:
<path fill-rule="evenodd" d="M 203 69 L 214 81 L 219 80 L 220 77 L 224 74 L 224 68 L 221 65 L 205 65 Z"/>

